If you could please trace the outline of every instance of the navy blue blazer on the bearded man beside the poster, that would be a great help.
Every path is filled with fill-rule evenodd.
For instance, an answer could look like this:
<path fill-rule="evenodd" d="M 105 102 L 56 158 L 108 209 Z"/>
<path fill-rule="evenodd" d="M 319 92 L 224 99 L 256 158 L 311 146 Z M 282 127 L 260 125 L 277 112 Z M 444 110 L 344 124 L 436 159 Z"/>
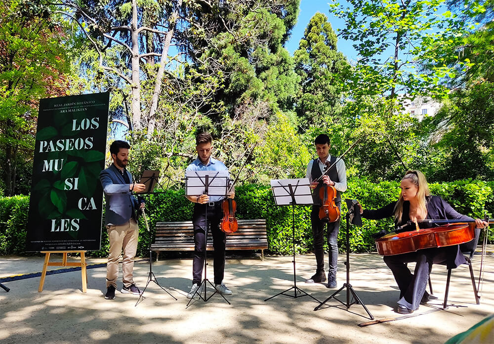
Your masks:
<path fill-rule="evenodd" d="M 128 179 L 132 180 L 132 175 L 127 173 Z M 105 225 L 115 224 L 120 225 L 127 222 L 130 218 L 135 218 L 135 210 L 138 209 L 139 201 L 131 194 L 129 190 L 130 184 L 125 183 L 124 177 L 118 171 L 118 168 L 112 164 L 108 169 L 99 173 L 101 185 L 106 200 Z"/>

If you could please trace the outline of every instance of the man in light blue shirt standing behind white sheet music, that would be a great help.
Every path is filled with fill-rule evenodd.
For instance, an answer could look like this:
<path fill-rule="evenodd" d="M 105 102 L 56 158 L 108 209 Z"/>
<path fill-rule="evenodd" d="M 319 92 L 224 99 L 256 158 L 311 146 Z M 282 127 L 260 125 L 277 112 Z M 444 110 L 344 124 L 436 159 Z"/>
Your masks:
<path fill-rule="evenodd" d="M 196 136 L 197 159 L 187 167 L 187 171 L 228 171 L 221 162 L 211 157 L 212 137 L 208 132 L 202 132 Z M 231 191 L 228 198 L 235 197 L 235 191 Z M 192 223 L 194 227 L 194 259 L 192 262 L 192 288 L 187 295 L 192 299 L 201 285 L 204 267 L 204 253 L 206 250 L 206 210 L 207 225 L 211 229 L 213 236 L 213 269 L 214 287 L 216 291 L 223 295 L 232 295 L 232 291 L 223 284 L 225 272 L 225 233 L 219 229 L 219 223 L 223 217 L 221 204 L 223 196 L 187 196 L 187 199 L 194 204 Z M 200 293 L 201 291 L 198 291 Z"/>

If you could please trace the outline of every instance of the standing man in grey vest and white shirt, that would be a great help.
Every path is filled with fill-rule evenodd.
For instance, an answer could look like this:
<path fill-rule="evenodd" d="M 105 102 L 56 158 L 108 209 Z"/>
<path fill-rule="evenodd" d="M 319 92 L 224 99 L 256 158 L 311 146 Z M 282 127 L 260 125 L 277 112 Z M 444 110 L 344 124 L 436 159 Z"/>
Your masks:
<path fill-rule="evenodd" d="M 322 200 L 319 197 L 319 190 L 323 184 L 334 186 L 336 189 L 336 198 L 334 200 L 336 206 L 341 210 L 341 192 L 346 191 L 346 168 L 343 160 L 336 162 L 336 157 L 329 155 L 329 136 L 321 134 L 314 140 L 316 152 L 319 158 L 309 161 L 307 166 L 306 178 L 311 182 L 311 188 L 314 190 L 312 198 L 314 205 L 311 212 L 312 234 L 314 236 L 314 254 L 316 255 L 317 269 L 316 273 L 307 280 L 308 283 L 320 283 L 326 281 L 324 272 L 324 226 L 327 222 L 319 218 L 319 209 Z M 322 177 L 320 182 L 313 182 L 319 178 L 324 170 L 336 162 L 326 175 Z M 336 271 L 338 267 L 338 231 L 340 220 L 329 222 L 328 224 L 328 247 L 329 247 L 329 267 L 328 267 L 328 288 L 336 288 Z"/>

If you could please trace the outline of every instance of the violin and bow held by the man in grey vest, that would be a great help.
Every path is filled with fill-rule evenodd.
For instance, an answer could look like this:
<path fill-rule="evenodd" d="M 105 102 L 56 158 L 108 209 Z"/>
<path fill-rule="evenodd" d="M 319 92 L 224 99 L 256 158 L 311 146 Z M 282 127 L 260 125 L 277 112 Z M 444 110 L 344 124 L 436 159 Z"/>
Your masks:
<path fill-rule="evenodd" d="M 336 164 L 348 153 L 355 145 L 360 141 L 358 138 L 338 159 L 334 161 L 333 164 L 329 165 L 329 161 L 326 162 L 326 169 L 323 171 L 321 176 L 313 182 L 320 182 L 324 175 L 328 174 L 329 171 L 336 166 Z M 334 200 L 336 199 L 337 191 L 332 185 L 323 184 L 319 189 L 319 198 L 322 201 L 321 208 L 319 208 L 319 219 L 323 222 L 336 222 L 340 218 L 339 207 L 336 206 Z"/>

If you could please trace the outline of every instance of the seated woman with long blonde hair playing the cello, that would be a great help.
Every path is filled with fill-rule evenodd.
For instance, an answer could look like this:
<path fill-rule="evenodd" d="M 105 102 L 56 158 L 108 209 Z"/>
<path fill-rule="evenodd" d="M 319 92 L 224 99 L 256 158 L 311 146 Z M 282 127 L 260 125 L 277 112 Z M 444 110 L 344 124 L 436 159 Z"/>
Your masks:
<path fill-rule="evenodd" d="M 401 180 L 400 188 L 401 192 L 398 201 L 392 202 L 381 209 L 363 210 L 359 203 L 362 217 L 381 219 L 394 216 L 395 226 L 405 224 L 409 220 L 416 222 L 423 219 L 473 221 L 471 217 L 456 212 L 441 197 L 432 196 L 427 180 L 420 171 L 407 171 Z M 482 228 L 487 225 L 487 222 L 476 219 L 475 224 L 477 228 Z M 468 243 L 461 245 L 468 245 Z M 420 303 L 429 301 L 430 296 L 425 289 L 432 264 L 446 262 L 448 268 L 455 268 L 466 262 L 466 259 L 461 254 L 460 245 L 453 245 L 384 256 L 384 262 L 393 272 L 396 283 L 400 288 L 400 300 L 396 311 L 407 314 L 418 309 Z M 413 274 L 407 265 L 410 262 L 416 262 Z"/>

